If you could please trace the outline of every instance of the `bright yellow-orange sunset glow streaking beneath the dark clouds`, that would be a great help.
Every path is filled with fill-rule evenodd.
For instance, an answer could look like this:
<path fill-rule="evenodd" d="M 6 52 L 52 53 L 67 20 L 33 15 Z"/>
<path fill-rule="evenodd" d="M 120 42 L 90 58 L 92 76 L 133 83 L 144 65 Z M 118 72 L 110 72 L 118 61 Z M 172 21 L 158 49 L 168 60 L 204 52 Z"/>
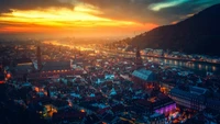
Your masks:
<path fill-rule="evenodd" d="M 95 7 L 77 5 L 73 10 L 65 8 L 50 8 L 43 10 L 12 10 L 10 13 L 2 13 L 1 23 L 7 23 L 0 32 L 47 32 L 55 31 L 80 33 L 103 32 L 109 33 L 127 32 L 133 30 L 152 29 L 156 24 L 142 24 L 133 21 L 113 20 L 101 16 L 102 12 Z M 120 30 L 120 31 L 119 31 Z"/>

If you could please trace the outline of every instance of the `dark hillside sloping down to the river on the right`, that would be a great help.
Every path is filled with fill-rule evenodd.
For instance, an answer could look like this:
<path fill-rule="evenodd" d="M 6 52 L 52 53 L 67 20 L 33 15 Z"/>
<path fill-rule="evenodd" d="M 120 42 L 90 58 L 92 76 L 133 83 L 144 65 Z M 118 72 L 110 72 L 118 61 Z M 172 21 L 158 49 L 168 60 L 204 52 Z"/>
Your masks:
<path fill-rule="evenodd" d="M 220 4 L 205 9 L 177 24 L 145 32 L 128 43 L 140 48 L 220 56 Z"/>

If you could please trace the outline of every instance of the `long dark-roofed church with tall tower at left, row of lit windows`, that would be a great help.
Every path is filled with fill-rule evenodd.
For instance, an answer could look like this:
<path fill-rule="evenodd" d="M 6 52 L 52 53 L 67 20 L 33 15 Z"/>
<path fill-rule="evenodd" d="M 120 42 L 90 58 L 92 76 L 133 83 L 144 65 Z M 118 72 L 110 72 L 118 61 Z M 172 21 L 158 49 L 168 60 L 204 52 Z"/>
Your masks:
<path fill-rule="evenodd" d="M 36 72 L 28 75 L 28 79 L 59 79 L 61 76 L 82 74 L 81 68 L 73 68 L 73 60 L 44 60 L 41 59 L 41 48 L 37 46 L 36 60 L 33 60 Z"/>

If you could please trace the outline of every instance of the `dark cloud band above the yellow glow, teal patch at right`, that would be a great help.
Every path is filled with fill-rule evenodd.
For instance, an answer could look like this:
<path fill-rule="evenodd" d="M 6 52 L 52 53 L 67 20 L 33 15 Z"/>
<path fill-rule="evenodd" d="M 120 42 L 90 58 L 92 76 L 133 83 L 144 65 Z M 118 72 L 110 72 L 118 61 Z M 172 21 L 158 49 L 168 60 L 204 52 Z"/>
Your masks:
<path fill-rule="evenodd" d="M 169 24 L 220 0 L 0 0 L 0 13 L 16 10 L 69 8 L 84 3 L 102 11 L 98 16 L 141 23 Z"/>

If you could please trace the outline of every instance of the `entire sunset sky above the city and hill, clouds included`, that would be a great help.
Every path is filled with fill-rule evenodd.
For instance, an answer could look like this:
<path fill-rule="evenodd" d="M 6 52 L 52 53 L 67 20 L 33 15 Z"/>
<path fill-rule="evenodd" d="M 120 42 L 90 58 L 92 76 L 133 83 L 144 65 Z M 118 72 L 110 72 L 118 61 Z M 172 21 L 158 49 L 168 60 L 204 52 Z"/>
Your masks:
<path fill-rule="evenodd" d="M 220 0 L 0 0 L 0 34 L 134 36 L 217 3 Z"/>

